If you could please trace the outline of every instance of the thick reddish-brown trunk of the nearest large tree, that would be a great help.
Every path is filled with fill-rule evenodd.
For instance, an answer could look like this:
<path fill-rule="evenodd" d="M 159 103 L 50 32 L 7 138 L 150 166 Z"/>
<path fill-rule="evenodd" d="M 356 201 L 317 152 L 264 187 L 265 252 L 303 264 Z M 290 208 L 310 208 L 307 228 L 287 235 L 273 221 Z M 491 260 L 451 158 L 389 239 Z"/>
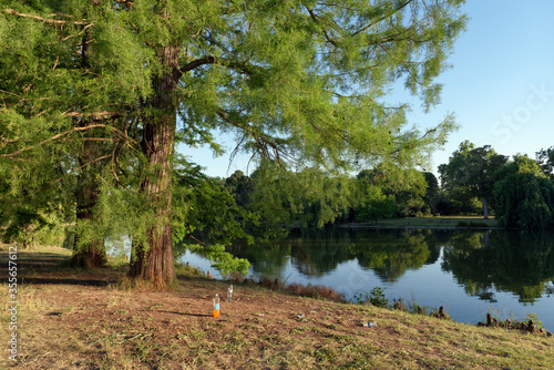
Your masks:
<path fill-rule="evenodd" d="M 175 279 L 172 243 L 171 162 L 176 130 L 175 88 L 181 71 L 177 47 L 164 47 L 158 59 L 166 70 L 154 79 L 155 96 L 146 102 L 153 114 L 144 117 L 142 150 L 148 162 L 148 176 L 141 185 L 156 209 L 156 222 L 147 232 L 148 246 L 133 243 L 130 276 L 165 288 Z"/>

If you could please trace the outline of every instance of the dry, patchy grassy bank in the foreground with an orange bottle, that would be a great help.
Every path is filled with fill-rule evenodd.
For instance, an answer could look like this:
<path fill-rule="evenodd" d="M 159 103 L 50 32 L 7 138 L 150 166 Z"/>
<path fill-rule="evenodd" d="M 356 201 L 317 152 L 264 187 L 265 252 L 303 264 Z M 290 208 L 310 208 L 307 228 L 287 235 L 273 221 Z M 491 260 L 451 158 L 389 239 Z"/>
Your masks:
<path fill-rule="evenodd" d="M 2 276 L 7 249 L 1 250 Z M 48 258 L 44 258 L 48 257 Z M 337 304 L 181 269 L 173 290 L 123 289 L 123 261 L 82 271 L 66 250 L 18 251 L 22 369 L 548 369 L 548 337 Z M 4 278 L 2 278 L 6 281 Z M 8 285 L 0 286 L 7 302 Z M 300 314 L 300 315 L 298 315 Z M 0 316 L 8 338 L 10 316 Z M 377 327 L 363 327 L 376 321 Z M 2 341 L 7 346 L 7 341 Z M 2 350 L 0 367 L 10 366 Z"/>

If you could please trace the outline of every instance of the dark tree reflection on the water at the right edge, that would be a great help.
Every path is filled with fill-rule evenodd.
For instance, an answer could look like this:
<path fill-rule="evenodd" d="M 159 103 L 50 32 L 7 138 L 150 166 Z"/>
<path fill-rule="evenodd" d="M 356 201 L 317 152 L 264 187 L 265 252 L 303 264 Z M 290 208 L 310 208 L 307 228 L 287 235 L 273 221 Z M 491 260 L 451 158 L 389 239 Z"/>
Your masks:
<path fill-rule="evenodd" d="M 494 302 L 495 290 L 511 291 L 532 304 L 552 294 L 554 237 L 499 230 L 459 234 L 444 247 L 442 268 L 472 296 Z"/>

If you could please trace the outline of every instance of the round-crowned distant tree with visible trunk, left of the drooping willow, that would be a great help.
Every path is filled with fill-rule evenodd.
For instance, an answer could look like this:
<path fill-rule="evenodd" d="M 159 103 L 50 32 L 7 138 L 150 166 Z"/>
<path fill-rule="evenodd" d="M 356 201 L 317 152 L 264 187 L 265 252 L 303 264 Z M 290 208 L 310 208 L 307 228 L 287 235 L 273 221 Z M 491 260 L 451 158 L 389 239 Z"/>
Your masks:
<path fill-rule="evenodd" d="M 483 201 L 483 217 L 489 218 L 489 203 L 493 201 L 494 172 L 507 162 L 490 145 L 475 147 L 469 141 L 460 144 L 448 164 L 439 166 L 441 183 L 448 192 L 458 189 Z"/>

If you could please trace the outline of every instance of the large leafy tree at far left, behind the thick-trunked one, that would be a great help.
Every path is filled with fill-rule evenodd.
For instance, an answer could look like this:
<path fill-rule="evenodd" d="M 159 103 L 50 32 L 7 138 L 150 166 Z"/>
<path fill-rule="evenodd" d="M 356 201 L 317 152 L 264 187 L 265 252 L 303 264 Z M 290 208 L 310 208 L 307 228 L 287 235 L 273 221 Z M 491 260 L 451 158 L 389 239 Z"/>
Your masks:
<path fill-rule="evenodd" d="M 110 235 L 99 227 L 100 183 L 124 176 L 147 58 L 95 2 L 3 2 L 0 21 L 4 195 L 37 204 L 32 195 L 55 188 L 76 208 L 74 261 L 101 266 Z"/>

